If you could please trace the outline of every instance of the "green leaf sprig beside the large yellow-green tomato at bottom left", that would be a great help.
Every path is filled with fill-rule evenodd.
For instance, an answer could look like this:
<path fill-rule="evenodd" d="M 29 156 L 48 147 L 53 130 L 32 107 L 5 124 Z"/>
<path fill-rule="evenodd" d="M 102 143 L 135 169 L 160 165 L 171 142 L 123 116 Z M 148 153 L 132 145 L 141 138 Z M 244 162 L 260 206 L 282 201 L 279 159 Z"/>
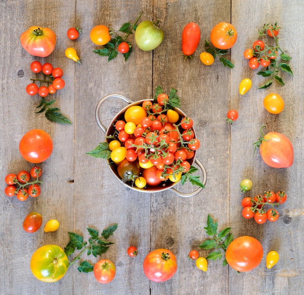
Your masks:
<path fill-rule="evenodd" d="M 84 242 L 83 236 L 74 233 L 74 232 L 68 232 L 70 241 L 68 242 L 68 245 L 65 247 L 65 253 L 69 257 L 72 255 L 75 250 L 82 250 L 77 256 L 75 256 L 71 261 L 69 261 L 69 266 L 72 264 L 76 264 L 75 262 L 77 260 L 80 260 L 80 256 L 87 252 L 87 255 L 92 254 L 94 257 L 97 257 L 97 255 L 101 255 L 102 253 L 105 253 L 109 245 L 112 245 L 114 243 L 112 242 L 106 242 L 111 235 L 113 235 L 114 231 L 117 229 L 117 224 L 114 224 L 112 226 L 109 226 L 107 229 L 104 229 L 101 232 L 101 236 L 99 236 L 99 232 L 96 229 L 87 228 L 87 231 L 90 235 L 90 238 L 88 239 L 88 242 Z M 82 261 L 80 264 L 78 264 L 78 271 L 79 272 L 92 272 L 94 268 L 94 265 L 92 265 L 88 261 Z"/>

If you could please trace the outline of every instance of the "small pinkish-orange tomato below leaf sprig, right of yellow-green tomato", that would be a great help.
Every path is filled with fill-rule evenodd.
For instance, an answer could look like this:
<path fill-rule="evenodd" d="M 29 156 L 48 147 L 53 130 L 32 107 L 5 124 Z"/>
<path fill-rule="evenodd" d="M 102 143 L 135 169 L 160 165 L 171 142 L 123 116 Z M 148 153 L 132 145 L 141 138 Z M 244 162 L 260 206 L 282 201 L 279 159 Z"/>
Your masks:
<path fill-rule="evenodd" d="M 111 282 L 116 274 L 115 264 L 108 259 L 101 259 L 94 264 L 93 268 L 95 279 L 101 284 Z"/>

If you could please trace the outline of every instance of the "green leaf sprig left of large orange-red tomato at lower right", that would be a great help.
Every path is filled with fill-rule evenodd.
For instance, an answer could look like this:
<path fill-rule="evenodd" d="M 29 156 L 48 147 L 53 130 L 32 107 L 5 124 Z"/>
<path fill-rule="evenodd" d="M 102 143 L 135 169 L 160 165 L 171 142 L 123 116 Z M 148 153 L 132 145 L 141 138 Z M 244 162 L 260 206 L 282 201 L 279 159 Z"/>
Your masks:
<path fill-rule="evenodd" d="M 211 252 L 206 259 L 207 260 L 217 260 L 222 259 L 223 253 L 227 250 L 228 245 L 232 242 L 233 237 L 230 232 L 231 228 L 222 229 L 218 233 L 218 223 L 214 222 L 212 217 L 208 214 L 207 217 L 207 227 L 204 228 L 207 235 L 212 236 L 211 239 L 205 240 L 202 245 L 199 247 L 202 249 L 214 249 L 215 251 Z M 226 259 L 223 260 L 223 266 L 227 264 Z"/>

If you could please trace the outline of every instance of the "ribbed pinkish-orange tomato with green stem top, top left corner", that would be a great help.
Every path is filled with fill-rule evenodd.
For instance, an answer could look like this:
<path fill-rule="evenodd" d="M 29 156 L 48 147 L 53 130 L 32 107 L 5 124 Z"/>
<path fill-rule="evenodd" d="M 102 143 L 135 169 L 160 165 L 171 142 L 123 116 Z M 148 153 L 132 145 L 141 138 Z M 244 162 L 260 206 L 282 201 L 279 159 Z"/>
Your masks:
<path fill-rule="evenodd" d="M 20 36 L 22 47 L 34 56 L 50 55 L 56 45 L 56 34 L 49 28 L 32 26 Z"/>

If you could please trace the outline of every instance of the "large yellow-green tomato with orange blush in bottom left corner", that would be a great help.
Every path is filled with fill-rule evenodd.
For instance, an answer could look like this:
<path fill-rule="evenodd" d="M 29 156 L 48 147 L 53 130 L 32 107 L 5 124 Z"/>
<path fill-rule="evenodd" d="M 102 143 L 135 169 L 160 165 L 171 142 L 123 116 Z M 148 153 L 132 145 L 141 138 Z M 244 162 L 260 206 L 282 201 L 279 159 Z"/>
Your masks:
<path fill-rule="evenodd" d="M 65 251 L 57 245 L 45 245 L 32 255 L 30 267 L 36 279 L 53 283 L 62 279 L 69 262 Z"/>

